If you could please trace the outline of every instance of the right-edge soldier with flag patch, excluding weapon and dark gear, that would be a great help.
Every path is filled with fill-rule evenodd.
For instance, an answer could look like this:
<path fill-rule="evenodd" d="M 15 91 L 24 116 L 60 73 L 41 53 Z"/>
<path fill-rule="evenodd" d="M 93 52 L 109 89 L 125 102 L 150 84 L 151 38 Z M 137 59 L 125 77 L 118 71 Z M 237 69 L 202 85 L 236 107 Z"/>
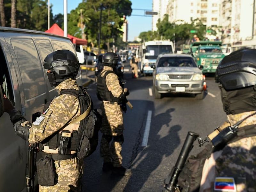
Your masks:
<path fill-rule="evenodd" d="M 200 192 L 256 191 L 256 50 L 242 49 L 226 56 L 215 74 L 228 122 L 240 125 L 235 139 L 205 160 Z"/>

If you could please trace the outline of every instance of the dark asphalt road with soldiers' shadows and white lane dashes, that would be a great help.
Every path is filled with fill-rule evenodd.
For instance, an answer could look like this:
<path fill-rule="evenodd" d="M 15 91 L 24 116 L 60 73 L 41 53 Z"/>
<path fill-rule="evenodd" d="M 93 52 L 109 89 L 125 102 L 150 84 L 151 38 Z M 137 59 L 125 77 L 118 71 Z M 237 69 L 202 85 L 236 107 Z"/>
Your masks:
<path fill-rule="evenodd" d="M 188 131 L 205 137 L 226 120 L 222 110 L 220 91 L 211 76 L 206 77 L 204 100 L 191 95 L 166 95 L 160 100 L 151 96 L 152 76 L 132 79 L 125 64 L 127 99 L 133 109 L 124 114 L 123 165 L 132 169 L 131 176 L 119 177 L 102 172 L 103 161 L 97 150 L 84 160 L 83 191 L 86 192 L 156 192 L 174 166 Z M 93 73 L 90 72 L 90 77 Z M 96 83 L 88 86 L 94 108 L 100 107 L 96 97 Z M 143 140 L 149 129 L 148 142 Z M 147 138 L 147 137 L 145 137 Z M 101 139 L 101 135 L 100 135 Z M 145 147 L 143 147 L 144 145 Z M 197 143 L 193 154 L 200 151 Z"/>

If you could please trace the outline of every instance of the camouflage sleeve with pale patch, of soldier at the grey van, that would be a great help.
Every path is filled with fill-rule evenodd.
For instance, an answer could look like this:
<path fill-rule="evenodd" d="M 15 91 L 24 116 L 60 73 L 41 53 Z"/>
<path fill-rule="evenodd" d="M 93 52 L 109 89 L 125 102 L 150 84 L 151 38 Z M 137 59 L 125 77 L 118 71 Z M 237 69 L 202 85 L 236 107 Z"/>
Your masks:
<path fill-rule="evenodd" d="M 29 129 L 29 143 L 38 143 L 60 130 L 77 113 L 79 101 L 73 95 L 60 95 L 49 108 L 33 122 Z"/>

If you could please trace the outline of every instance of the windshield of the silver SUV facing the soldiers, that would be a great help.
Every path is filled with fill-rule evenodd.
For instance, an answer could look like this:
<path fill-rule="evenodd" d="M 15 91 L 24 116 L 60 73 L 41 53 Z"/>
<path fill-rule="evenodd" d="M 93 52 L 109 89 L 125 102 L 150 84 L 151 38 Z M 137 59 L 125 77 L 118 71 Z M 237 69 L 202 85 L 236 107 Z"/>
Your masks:
<path fill-rule="evenodd" d="M 157 67 L 196 67 L 196 63 L 190 57 L 162 57 Z"/>

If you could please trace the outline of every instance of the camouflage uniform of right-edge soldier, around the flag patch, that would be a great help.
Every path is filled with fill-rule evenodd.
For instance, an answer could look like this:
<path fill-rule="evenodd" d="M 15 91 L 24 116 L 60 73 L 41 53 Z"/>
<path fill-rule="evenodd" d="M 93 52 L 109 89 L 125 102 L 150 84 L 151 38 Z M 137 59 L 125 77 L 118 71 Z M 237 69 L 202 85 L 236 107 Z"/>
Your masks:
<path fill-rule="evenodd" d="M 228 122 L 233 125 L 254 112 L 228 115 Z M 255 124 L 256 115 L 246 119 L 239 127 Z M 241 137 L 206 159 L 200 192 L 213 191 L 216 177 L 234 178 L 236 191 L 256 191 L 256 136 Z"/>

